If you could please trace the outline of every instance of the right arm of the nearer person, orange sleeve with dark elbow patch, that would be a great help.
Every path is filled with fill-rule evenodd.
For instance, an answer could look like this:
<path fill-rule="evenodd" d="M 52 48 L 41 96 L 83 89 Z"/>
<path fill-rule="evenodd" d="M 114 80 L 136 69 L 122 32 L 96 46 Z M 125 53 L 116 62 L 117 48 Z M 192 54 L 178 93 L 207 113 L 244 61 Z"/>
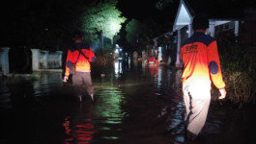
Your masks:
<path fill-rule="evenodd" d="M 220 96 L 218 98 L 224 99 L 226 97 L 226 89 L 225 83 L 222 78 L 220 61 L 217 51 L 217 44 L 215 40 L 208 46 L 207 52 L 211 79 L 213 81 L 213 84 L 219 90 Z"/>

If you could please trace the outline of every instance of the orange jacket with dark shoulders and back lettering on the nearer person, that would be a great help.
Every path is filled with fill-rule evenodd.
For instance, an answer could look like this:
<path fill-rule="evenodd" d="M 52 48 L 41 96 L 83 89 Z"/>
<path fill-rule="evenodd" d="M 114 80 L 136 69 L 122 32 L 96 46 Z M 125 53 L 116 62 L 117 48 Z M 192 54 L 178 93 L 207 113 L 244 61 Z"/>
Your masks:
<path fill-rule="evenodd" d="M 195 32 L 181 47 L 181 61 L 184 68 L 183 82 L 190 80 L 211 80 L 217 88 L 223 88 L 217 44 L 213 37 Z"/>

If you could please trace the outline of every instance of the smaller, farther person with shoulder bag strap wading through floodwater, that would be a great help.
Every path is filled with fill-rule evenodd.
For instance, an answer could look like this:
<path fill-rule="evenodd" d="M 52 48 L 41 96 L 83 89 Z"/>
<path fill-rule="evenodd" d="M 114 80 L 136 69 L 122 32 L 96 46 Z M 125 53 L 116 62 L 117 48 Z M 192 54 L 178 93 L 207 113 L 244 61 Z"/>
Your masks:
<path fill-rule="evenodd" d="M 83 101 L 83 84 L 86 91 L 94 101 L 95 89 L 91 78 L 91 61 L 96 60 L 92 48 L 83 43 L 82 35 L 76 34 L 72 40 L 74 45 L 68 50 L 64 83 L 67 83 L 70 76 L 71 63 L 75 63 L 75 72 L 72 75 L 72 84 L 75 88 L 76 96 L 80 102 Z"/>

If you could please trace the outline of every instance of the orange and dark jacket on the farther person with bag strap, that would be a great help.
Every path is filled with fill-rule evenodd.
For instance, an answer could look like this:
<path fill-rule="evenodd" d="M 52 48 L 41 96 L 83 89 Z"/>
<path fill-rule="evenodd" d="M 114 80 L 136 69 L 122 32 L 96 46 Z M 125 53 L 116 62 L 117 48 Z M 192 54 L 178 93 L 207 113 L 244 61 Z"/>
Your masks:
<path fill-rule="evenodd" d="M 87 57 L 85 58 L 82 54 L 79 55 L 79 51 Z M 78 58 L 79 55 L 79 58 Z M 77 60 L 78 58 L 78 60 Z M 91 72 L 91 64 L 90 61 L 96 60 L 96 56 L 90 46 L 87 46 L 83 43 L 76 43 L 74 47 L 68 50 L 68 56 L 67 56 L 67 62 L 66 62 L 66 70 L 65 75 L 70 75 L 70 66 L 71 63 L 74 63 L 77 60 L 75 64 L 75 70 L 81 71 L 81 72 Z"/>

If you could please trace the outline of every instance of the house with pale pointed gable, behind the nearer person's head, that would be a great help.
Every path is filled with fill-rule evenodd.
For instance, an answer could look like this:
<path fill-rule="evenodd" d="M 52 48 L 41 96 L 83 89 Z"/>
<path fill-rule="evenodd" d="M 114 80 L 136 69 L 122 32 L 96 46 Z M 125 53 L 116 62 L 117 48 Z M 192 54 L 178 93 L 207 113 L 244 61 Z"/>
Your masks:
<path fill-rule="evenodd" d="M 246 1 L 246 0 L 244 0 Z M 249 9 L 250 8 L 250 9 Z M 256 47 L 256 11 L 250 3 L 238 1 L 200 1 L 180 0 L 178 11 L 173 24 L 173 32 L 168 32 L 168 45 L 175 47 L 171 54 L 171 65 L 180 66 L 180 48 L 184 40 L 192 36 L 192 19 L 196 13 L 209 15 L 210 27 L 207 35 L 218 37 L 223 33 L 231 33 L 235 38 L 232 42 Z M 157 36 L 154 41 L 159 43 L 164 36 Z M 158 44 L 159 45 L 159 44 Z M 161 44 L 162 45 L 162 44 Z M 175 58 L 174 58 L 175 57 Z M 175 64 L 174 64 L 175 60 Z"/>

